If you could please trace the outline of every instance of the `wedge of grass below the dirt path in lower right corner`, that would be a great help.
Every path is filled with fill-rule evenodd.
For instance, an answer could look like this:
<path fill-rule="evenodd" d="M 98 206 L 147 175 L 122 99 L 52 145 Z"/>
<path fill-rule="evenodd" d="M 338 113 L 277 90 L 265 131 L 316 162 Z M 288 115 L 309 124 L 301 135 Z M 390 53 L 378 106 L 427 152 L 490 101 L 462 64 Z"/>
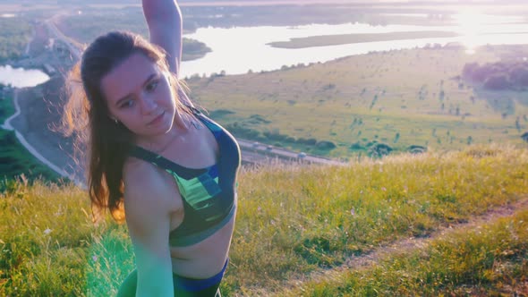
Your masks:
<path fill-rule="evenodd" d="M 280 296 L 524 296 L 528 210 L 443 236 Z"/>

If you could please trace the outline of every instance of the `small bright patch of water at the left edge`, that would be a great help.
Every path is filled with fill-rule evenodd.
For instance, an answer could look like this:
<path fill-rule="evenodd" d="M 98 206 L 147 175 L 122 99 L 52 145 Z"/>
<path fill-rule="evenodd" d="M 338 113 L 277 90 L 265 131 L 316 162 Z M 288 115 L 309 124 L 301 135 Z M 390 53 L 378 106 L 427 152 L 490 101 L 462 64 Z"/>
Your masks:
<path fill-rule="evenodd" d="M 49 76 L 46 73 L 36 69 L 0 66 L 0 83 L 4 85 L 11 84 L 16 88 L 34 87 L 48 80 Z"/>

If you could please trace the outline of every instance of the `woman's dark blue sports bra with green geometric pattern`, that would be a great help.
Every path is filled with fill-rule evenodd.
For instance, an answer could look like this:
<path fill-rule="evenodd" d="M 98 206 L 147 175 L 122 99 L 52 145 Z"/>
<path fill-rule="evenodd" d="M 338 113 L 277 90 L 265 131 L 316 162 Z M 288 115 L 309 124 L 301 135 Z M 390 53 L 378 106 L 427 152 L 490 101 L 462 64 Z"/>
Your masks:
<path fill-rule="evenodd" d="M 208 238 L 226 225 L 236 208 L 236 174 L 241 153 L 233 135 L 218 123 L 190 107 L 217 140 L 217 163 L 194 169 L 178 165 L 152 151 L 134 146 L 130 155 L 163 168 L 175 178 L 183 199 L 183 222 L 169 233 L 171 246 L 189 246 Z"/>

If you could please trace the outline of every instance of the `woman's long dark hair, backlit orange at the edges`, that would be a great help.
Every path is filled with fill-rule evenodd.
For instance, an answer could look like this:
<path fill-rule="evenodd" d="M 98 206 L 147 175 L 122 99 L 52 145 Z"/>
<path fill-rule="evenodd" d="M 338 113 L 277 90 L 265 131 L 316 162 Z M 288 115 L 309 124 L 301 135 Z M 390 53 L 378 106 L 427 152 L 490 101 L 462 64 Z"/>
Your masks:
<path fill-rule="evenodd" d="M 95 39 L 82 55 L 67 80 L 69 100 L 64 106 L 63 126 L 67 135 L 75 134 L 78 159 L 89 165 L 89 199 L 94 220 L 106 208 L 117 222 L 123 222 L 123 164 L 135 140 L 123 124 L 110 119 L 101 80 L 132 54 L 141 53 L 168 72 L 165 51 L 145 38 L 125 31 L 113 31 Z M 179 81 L 169 75 L 177 96 Z M 176 108 L 189 112 L 176 97 Z"/>

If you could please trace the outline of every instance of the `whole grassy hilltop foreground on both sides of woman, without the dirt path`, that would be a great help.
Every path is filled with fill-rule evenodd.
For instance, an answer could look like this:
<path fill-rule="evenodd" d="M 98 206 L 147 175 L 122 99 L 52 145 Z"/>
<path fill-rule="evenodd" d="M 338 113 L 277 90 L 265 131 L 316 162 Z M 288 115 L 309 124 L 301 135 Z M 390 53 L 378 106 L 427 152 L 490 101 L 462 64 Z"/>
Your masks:
<path fill-rule="evenodd" d="M 527 168 L 528 150 L 498 146 L 346 166 L 246 168 L 222 292 L 478 295 L 525 284 L 526 211 L 372 268 L 302 280 L 515 203 L 527 192 Z M 0 295 L 111 296 L 133 269 L 126 227 L 110 219 L 92 225 L 86 192 L 74 186 L 12 182 L 0 193 L 0 209 Z"/>

